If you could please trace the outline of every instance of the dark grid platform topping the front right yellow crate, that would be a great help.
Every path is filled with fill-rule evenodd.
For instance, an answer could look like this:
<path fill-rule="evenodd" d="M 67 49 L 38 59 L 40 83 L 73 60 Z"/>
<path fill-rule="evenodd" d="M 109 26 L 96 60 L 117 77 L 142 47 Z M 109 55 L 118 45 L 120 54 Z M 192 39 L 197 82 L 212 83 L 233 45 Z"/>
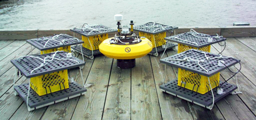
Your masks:
<path fill-rule="evenodd" d="M 213 58 L 213 57 L 218 57 L 220 55 L 217 54 L 212 54 L 212 53 L 206 53 L 207 57 Z M 185 52 L 179 53 L 172 55 L 167 58 L 160 59 L 160 62 L 166 63 L 167 65 L 174 66 L 177 68 L 182 68 L 184 70 L 188 70 L 191 72 L 195 72 L 200 75 L 204 76 L 212 76 L 214 74 L 217 74 L 217 72 L 220 72 L 222 70 L 225 70 L 225 66 L 218 66 L 218 61 L 224 61 L 225 65 L 230 67 L 238 63 L 237 61 L 240 60 L 235 60 L 234 58 L 221 58 L 221 59 L 208 59 L 205 58 L 203 51 L 200 50 L 195 50 L 195 49 L 190 49 Z M 187 62 L 187 61 L 176 61 L 176 60 L 166 60 L 166 59 L 184 59 L 185 57 L 189 57 L 192 59 L 197 59 L 197 60 L 204 60 L 204 62 L 200 62 L 200 65 L 204 67 L 206 70 L 209 72 L 206 72 L 201 68 L 199 65 L 197 65 L 197 62 Z M 223 56 L 224 57 L 224 56 Z"/>

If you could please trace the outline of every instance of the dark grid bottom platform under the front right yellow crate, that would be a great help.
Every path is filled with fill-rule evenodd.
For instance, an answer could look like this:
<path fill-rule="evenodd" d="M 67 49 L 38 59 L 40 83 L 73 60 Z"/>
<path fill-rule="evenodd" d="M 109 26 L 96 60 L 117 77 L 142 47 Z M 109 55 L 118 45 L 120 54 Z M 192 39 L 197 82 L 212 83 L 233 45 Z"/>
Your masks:
<path fill-rule="evenodd" d="M 222 83 L 223 82 L 220 82 L 220 84 Z M 225 93 L 222 93 L 221 95 L 217 94 L 217 88 L 213 89 L 214 103 L 220 100 L 221 98 L 229 95 L 229 93 L 232 93 L 234 90 L 236 90 L 237 85 L 224 83 L 224 85 L 222 85 L 221 88 Z M 173 96 L 183 98 L 184 100 L 187 100 L 189 102 L 193 102 L 205 107 L 212 105 L 212 102 L 213 102 L 211 91 L 205 93 L 204 95 L 201 95 L 200 93 L 193 92 L 189 89 L 181 88 L 177 85 L 177 79 L 172 80 L 171 82 L 168 82 L 166 84 L 160 85 L 160 89 L 162 89 L 162 91 L 169 93 Z"/>

